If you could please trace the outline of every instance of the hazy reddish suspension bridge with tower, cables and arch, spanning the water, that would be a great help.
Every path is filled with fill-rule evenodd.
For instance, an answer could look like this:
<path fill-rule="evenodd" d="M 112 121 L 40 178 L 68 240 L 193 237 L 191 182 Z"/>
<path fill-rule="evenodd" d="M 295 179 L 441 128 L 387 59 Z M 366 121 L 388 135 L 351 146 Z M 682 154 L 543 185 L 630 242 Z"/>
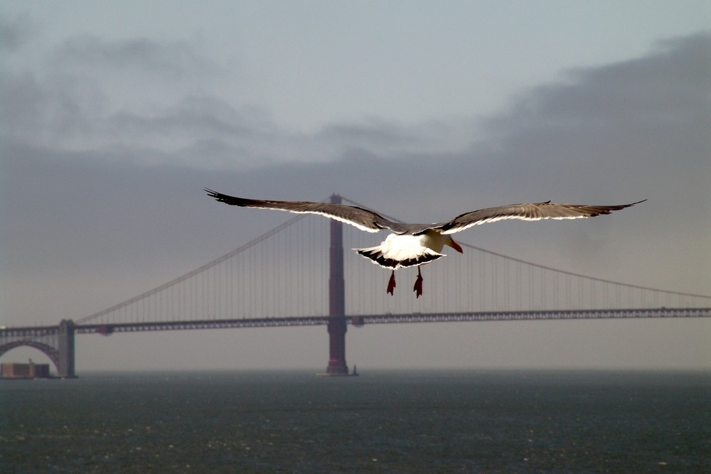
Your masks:
<path fill-rule="evenodd" d="M 331 202 L 341 200 L 358 205 L 331 196 Z M 198 269 L 98 313 L 55 326 L 1 328 L 0 356 L 30 346 L 50 358 L 59 377 L 75 377 L 77 334 L 326 325 L 326 373 L 348 375 L 348 325 L 711 317 L 711 296 L 597 279 L 461 241 L 463 256 L 427 266 L 424 297 L 402 288 L 410 276 L 415 279 L 408 270 L 398 271 L 401 287 L 390 296 L 385 294 L 387 272 L 343 251 L 381 239 L 340 222 L 297 215 Z"/>

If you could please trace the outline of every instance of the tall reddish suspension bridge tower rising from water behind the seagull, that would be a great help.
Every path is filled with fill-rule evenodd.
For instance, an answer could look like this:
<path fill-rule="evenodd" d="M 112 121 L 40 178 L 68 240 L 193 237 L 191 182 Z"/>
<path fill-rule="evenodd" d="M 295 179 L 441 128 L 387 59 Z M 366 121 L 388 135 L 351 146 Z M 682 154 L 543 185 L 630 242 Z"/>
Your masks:
<path fill-rule="evenodd" d="M 331 195 L 341 204 L 341 196 Z M 343 276 L 343 224 L 331 220 L 331 276 L 328 279 L 328 375 L 348 375 L 346 365 L 346 279 Z"/>

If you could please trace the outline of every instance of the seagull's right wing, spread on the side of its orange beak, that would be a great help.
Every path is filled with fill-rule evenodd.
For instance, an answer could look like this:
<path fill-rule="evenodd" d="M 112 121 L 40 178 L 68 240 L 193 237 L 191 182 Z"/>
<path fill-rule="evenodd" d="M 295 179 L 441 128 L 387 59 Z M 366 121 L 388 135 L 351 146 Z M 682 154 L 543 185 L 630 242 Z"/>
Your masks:
<path fill-rule="evenodd" d="M 473 225 L 503 219 L 579 219 L 581 217 L 609 214 L 614 210 L 629 208 L 632 205 L 643 203 L 644 201 L 646 201 L 646 199 L 631 204 L 608 206 L 555 204 L 550 201 L 547 203 L 511 204 L 499 206 L 498 208 L 486 208 L 465 212 L 464 214 L 454 217 L 454 219 L 449 222 L 442 222 L 441 224 L 434 225 L 432 228 L 438 229 L 442 234 L 454 234 L 454 232 L 469 229 L 469 227 Z"/>

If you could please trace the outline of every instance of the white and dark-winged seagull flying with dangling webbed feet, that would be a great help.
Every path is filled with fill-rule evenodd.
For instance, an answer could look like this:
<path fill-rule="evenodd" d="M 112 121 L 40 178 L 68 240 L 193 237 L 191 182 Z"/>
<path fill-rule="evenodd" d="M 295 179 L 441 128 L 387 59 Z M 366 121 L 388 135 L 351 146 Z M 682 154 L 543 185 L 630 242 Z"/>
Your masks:
<path fill-rule="evenodd" d="M 496 208 L 486 208 L 464 212 L 447 222 L 435 224 L 406 224 L 386 219 L 372 210 L 358 206 L 333 203 L 312 203 L 309 201 L 278 201 L 235 198 L 205 188 L 210 198 L 220 203 L 240 206 L 241 208 L 276 209 L 296 214 L 318 214 L 330 219 L 345 222 L 365 232 L 390 230 L 380 245 L 364 249 L 353 249 L 374 264 L 392 270 L 387 282 L 387 293 L 395 290 L 395 270 L 408 266 L 417 266 L 417 279 L 412 291 L 415 297 L 422 296 L 422 270 L 420 266 L 444 257 L 442 249 L 445 245 L 457 252 L 464 253 L 461 245 L 451 238 L 451 234 L 469 229 L 484 222 L 496 222 L 504 219 L 541 220 L 541 219 L 579 219 L 609 214 L 614 210 L 629 208 L 636 203 L 623 205 L 577 205 L 545 203 L 510 204 Z"/>

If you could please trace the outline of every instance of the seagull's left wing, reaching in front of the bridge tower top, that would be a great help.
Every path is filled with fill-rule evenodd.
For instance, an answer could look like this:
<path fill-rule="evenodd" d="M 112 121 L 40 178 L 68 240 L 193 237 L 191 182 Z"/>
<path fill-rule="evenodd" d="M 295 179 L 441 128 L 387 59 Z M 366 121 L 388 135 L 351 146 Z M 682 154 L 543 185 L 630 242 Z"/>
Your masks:
<path fill-rule="evenodd" d="M 205 191 L 210 198 L 215 198 L 220 203 L 236 205 L 241 208 L 276 209 L 296 214 L 318 214 L 346 222 L 346 224 L 358 227 L 358 229 L 365 230 L 365 232 L 378 232 L 379 230 L 389 229 L 390 226 L 396 224 L 373 211 L 345 204 L 245 199 L 228 196 L 208 188 L 205 188 Z"/>

